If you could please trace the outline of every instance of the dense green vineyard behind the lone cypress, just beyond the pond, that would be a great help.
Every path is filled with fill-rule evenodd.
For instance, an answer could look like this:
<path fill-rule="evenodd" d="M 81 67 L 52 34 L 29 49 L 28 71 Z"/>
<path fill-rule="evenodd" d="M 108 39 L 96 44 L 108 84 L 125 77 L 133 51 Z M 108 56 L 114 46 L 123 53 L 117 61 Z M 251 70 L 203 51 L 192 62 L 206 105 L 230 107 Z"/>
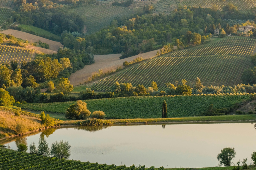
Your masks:
<path fill-rule="evenodd" d="M 89 111 L 104 111 L 106 119 L 136 119 L 161 118 L 162 102 L 167 103 L 167 118 L 191 117 L 206 111 L 210 104 L 221 109 L 230 107 L 235 103 L 248 100 L 250 94 L 227 95 L 183 95 L 183 96 L 141 96 L 120 97 L 107 99 L 83 100 L 87 103 Z M 52 113 L 65 113 L 66 109 L 76 103 L 29 103 L 18 105 L 22 109 L 46 111 Z"/>

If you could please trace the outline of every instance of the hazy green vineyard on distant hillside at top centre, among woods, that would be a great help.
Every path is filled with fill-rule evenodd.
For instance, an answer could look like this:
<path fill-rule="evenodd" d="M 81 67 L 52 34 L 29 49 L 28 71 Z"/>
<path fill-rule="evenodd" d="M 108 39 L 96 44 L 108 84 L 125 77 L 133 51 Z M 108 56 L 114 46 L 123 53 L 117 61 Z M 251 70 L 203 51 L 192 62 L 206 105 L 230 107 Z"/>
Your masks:
<path fill-rule="evenodd" d="M 122 18 L 123 16 L 129 16 L 133 13 L 128 8 L 105 5 L 88 5 L 81 8 L 70 9 L 69 12 L 77 13 L 84 17 L 87 33 L 93 33 L 108 26 L 115 17 Z"/>

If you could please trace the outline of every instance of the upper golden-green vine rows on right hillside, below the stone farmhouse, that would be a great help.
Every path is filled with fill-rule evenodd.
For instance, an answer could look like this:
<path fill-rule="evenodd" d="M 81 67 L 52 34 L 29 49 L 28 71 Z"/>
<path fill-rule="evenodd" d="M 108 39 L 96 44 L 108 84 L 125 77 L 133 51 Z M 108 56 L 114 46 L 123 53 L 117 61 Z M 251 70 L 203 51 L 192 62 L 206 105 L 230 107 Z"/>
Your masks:
<path fill-rule="evenodd" d="M 230 37 L 222 41 L 197 46 L 187 50 L 177 51 L 169 56 L 199 56 L 212 54 L 230 54 L 234 56 L 249 57 L 255 49 L 255 39 Z"/>

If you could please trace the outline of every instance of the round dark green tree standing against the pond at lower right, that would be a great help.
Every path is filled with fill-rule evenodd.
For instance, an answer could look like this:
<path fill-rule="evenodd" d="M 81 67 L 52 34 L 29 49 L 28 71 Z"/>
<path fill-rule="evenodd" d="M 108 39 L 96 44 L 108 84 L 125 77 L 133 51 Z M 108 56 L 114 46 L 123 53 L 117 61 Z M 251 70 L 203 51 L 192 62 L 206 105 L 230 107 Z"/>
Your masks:
<path fill-rule="evenodd" d="M 235 154 L 235 148 L 226 147 L 221 150 L 217 156 L 217 159 L 220 161 L 221 165 L 223 164 L 224 166 L 230 166 Z"/>

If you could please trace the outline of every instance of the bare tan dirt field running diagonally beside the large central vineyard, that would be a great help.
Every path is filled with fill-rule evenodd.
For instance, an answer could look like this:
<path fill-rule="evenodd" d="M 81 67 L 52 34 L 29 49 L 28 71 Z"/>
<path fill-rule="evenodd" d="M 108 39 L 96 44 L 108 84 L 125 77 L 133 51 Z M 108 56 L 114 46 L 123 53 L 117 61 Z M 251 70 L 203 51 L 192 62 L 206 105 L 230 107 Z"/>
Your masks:
<path fill-rule="evenodd" d="M 138 56 L 143 57 L 144 59 L 151 58 L 156 55 L 157 51 L 158 50 L 154 50 L 124 59 L 119 59 L 121 54 L 94 55 L 95 63 L 91 65 L 86 65 L 83 69 L 71 74 L 69 78 L 70 83 L 73 84 L 73 86 L 77 86 L 80 83 L 83 84 L 84 81 L 92 75 L 92 73 L 98 72 L 99 69 L 103 69 L 103 71 L 112 68 L 116 69 L 117 67 L 122 66 L 124 61 L 130 62 Z"/>

